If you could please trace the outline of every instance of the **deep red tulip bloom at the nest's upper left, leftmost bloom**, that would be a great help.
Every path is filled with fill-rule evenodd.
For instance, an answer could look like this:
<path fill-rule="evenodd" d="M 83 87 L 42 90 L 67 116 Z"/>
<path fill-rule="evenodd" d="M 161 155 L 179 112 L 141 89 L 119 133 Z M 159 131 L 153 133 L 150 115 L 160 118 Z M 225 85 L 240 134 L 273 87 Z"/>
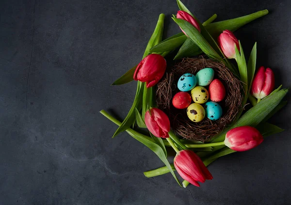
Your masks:
<path fill-rule="evenodd" d="M 134 80 L 146 82 L 146 87 L 156 85 L 162 78 L 167 67 L 166 60 L 159 54 L 149 54 L 136 67 Z"/>

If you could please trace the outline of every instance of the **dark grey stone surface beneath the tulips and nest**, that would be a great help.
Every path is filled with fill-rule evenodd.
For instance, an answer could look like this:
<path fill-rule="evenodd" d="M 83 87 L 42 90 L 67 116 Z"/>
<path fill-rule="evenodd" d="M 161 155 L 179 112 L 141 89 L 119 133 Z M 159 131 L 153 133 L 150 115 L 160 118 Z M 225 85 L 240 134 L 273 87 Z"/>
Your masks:
<path fill-rule="evenodd" d="M 258 66 L 290 86 L 290 0 L 192 0 L 201 20 L 269 9 L 236 32 L 248 56 L 258 42 Z M 286 205 L 291 202 L 290 104 L 271 120 L 285 132 L 209 166 L 201 188 L 178 187 L 170 174 L 146 178 L 162 162 L 98 111 L 123 119 L 136 82 L 110 86 L 143 55 L 156 20 L 175 0 L 1 0 L 1 205 Z M 290 95 L 289 95 L 290 96 Z"/>

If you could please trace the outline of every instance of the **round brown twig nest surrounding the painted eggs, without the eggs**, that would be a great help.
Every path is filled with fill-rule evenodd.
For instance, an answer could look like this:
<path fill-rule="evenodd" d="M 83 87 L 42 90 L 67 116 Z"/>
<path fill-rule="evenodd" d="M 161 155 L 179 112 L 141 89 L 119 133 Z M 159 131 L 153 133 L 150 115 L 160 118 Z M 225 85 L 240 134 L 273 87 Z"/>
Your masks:
<path fill-rule="evenodd" d="M 193 122 L 187 117 L 187 109 L 177 109 L 172 105 L 172 98 L 179 92 L 177 83 L 181 75 L 196 74 L 203 68 L 213 68 L 213 79 L 218 78 L 226 87 L 226 97 L 219 102 L 223 115 L 215 121 L 204 118 L 200 122 Z M 157 86 L 156 101 L 158 107 L 169 116 L 173 130 L 181 137 L 204 142 L 222 132 L 235 119 L 242 104 L 242 83 L 222 63 L 203 57 L 184 58 L 166 71 Z"/>

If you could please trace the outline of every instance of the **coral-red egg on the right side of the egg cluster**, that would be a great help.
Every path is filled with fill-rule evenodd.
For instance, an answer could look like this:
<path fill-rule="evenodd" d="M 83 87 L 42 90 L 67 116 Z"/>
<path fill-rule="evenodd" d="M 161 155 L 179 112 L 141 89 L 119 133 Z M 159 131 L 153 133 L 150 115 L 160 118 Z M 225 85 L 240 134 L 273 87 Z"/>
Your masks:
<path fill-rule="evenodd" d="M 208 91 L 210 100 L 213 102 L 220 102 L 226 97 L 226 88 L 218 79 L 210 83 Z"/>

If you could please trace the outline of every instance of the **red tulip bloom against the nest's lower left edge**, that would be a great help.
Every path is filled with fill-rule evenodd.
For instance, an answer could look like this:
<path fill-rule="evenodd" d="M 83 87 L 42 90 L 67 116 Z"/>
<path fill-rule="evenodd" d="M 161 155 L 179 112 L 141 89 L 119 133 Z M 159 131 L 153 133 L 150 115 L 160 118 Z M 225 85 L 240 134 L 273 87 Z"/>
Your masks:
<path fill-rule="evenodd" d="M 158 108 L 146 111 L 145 122 L 147 129 L 156 137 L 169 137 L 170 120 L 168 116 Z"/>

